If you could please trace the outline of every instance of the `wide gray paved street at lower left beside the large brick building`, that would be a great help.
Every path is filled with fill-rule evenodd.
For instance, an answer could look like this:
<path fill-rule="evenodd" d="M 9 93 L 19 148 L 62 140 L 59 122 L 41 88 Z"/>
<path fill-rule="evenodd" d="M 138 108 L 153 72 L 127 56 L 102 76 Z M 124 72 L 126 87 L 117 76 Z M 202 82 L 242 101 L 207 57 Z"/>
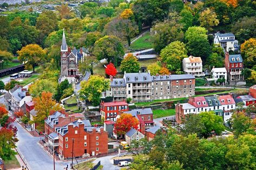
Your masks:
<path fill-rule="evenodd" d="M 40 137 L 32 137 L 21 125 L 14 123 L 18 128 L 17 150 L 22 158 L 25 158 L 25 163 L 28 164 L 29 170 L 53 169 L 53 160 L 50 155 L 38 144 Z M 56 170 L 64 169 L 61 161 L 55 162 Z"/>

